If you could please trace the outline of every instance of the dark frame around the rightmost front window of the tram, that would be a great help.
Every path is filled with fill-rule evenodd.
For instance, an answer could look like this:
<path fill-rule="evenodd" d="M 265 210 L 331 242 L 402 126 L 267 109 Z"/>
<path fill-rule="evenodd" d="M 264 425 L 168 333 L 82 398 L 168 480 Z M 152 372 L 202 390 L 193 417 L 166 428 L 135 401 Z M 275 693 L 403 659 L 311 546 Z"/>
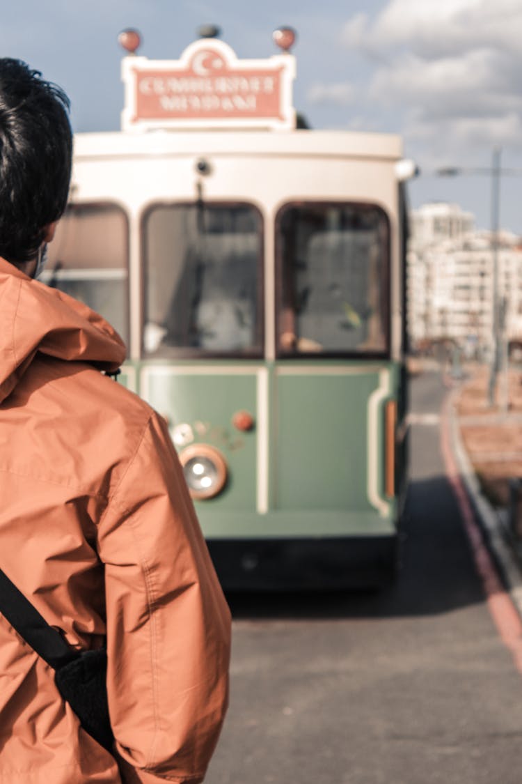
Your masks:
<path fill-rule="evenodd" d="M 383 337 L 385 347 L 382 350 L 361 351 L 356 349 L 346 350 L 297 350 L 296 348 L 283 348 L 281 345 L 281 335 L 283 333 L 283 242 L 281 223 L 284 213 L 289 209 L 295 208 L 317 208 L 322 207 L 328 209 L 329 207 L 342 208 L 350 207 L 354 209 L 373 209 L 380 213 L 383 218 L 383 278 L 382 278 L 382 293 L 383 300 Z M 283 205 L 279 206 L 275 214 L 274 221 L 274 242 L 275 242 L 275 358 L 278 360 L 299 360 L 299 359 L 315 359 L 321 361 L 323 359 L 358 359 L 358 360 L 376 360 L 376 359 L 389 359 L 391 357 L 391 220 L 387 211 L 379 204 L 372 201 L 347 201 L 346 199 L 296 199 L 293 201 L 286 201 Z"/>

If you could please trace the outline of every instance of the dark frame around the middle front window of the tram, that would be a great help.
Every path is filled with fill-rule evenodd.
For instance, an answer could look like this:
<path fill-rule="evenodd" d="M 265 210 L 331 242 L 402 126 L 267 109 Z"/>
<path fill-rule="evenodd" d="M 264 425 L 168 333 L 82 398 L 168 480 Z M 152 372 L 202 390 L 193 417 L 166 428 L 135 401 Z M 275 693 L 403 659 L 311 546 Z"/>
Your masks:
<path fill-rule="evenodd" d="M 254 336 L 256 339 L 256 347 L 247 350 L 210 350 L 196 347 L 181 347 L 172 346 L 167 347 L 167 350 L 161 351 L 160 349 L 147 352 L 145 350 L 145 326 L 146 326 L 146 296 L 147 296 L 147 273 L 149 270 L 149 260 L 147 258 L 147 234 L 146 223 L 149 220 L 151 213 L 158 208 L 165 207 L 185 207 L 197 208 L 197 201 L 190 200 L 176 200 L 176 199 L 158 199 L 151 201 L 146 209 L 143 210 L 140 218 L 140 238 L 141 238 L 141 336 L 140 336 L 140 357 L 143 360 L 175 360 L 175 359 L 262 359 L 265 356 L 265 216 L 261 209 L 251 201 L 246 199 L 232 201 L 232 199 L 207 199 L 205 198 L 204 206 L 207 207 L 248 207 L 257 213 L 260 220 L 259 230 L 259 255 L 256 264 L 256 308 L 257 308 L 257 323 L 254 328 Z"/>

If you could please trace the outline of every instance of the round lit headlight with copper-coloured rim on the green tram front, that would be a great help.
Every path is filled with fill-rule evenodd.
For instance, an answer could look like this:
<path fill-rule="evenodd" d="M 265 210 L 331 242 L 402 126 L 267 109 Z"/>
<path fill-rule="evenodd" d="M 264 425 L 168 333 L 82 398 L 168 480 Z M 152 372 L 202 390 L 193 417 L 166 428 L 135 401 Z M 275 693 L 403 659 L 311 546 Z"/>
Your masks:
<path fill-rule="evenodd" d="M 214 498 L 225 487 L 227 466 L 218 449 L 207 444 L 193 444 L 183 449 L 179 459 L 194 499 Z"/>

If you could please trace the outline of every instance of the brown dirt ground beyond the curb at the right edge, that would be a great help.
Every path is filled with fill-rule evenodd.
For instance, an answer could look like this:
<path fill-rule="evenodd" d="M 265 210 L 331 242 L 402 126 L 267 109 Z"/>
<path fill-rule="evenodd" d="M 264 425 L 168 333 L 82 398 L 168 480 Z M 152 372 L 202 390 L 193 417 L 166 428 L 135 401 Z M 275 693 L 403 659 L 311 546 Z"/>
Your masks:
<path fill-rule="evenodd" d="M 509 480 L 522 477 L 522 368 L 499 374 L 488 405 L 489 368 L 466 368 L 456 412 L 466 452 L 494 506 L 509 505 Z"/>

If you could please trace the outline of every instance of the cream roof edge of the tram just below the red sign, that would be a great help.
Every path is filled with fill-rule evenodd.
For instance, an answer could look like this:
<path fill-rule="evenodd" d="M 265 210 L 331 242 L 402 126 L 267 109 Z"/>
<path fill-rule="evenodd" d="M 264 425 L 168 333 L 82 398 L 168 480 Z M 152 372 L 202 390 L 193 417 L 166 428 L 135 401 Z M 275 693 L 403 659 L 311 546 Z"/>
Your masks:
<path fill-rule="evenodd" d="M 202 153 L 396 161 L 402 157 L 403 151 L 401 136 L 351 131 L 113 131 L 77 133 L 74 136 L 77 161 Z"/>

